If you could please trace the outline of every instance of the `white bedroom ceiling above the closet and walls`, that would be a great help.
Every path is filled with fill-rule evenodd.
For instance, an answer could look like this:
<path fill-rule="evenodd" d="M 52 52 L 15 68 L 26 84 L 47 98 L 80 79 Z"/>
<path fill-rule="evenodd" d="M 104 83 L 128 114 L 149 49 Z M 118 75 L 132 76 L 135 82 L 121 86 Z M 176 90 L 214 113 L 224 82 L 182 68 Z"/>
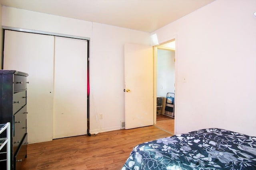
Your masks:
<path fill-rule="evenodd" d="M 214 0 L 1 0 L 3 6 L 152 32 Z"/>

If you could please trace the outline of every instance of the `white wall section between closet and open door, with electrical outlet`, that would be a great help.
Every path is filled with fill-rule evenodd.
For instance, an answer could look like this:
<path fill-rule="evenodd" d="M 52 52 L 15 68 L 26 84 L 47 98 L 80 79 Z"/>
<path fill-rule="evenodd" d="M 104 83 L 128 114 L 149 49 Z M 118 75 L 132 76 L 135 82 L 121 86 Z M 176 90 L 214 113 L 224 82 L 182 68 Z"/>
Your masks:
<path fill-rule="evenodd" d="M 150 45 L 150 34 L 93 23 L 90 132 L 120 129 L 124 121 L 124 43 Z M 98 119 L 98 114 L 103 119 Z"/>

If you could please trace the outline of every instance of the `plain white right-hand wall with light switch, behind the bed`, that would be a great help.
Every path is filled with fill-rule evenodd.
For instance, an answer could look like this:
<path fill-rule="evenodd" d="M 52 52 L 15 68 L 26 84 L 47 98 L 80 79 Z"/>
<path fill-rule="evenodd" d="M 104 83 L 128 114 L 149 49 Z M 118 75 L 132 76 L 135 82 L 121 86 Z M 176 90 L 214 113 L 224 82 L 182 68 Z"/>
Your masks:
<path fill-rule="evenodd" d="M 216 0 L 152 33 L 159 43 L 177 35 L 176 133 L 219 127 L 256 136 L 255 6 Z"/>

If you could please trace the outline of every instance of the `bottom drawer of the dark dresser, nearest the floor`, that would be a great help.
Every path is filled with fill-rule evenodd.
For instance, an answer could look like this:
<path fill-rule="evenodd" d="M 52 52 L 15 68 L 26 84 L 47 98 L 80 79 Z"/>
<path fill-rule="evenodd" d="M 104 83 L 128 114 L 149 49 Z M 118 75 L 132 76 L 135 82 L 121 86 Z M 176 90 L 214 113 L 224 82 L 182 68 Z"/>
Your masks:
<path fill-rule="evenodd" d="M 28 134 L 26 133 L 24 135 L 24 138 L 22 140 L 20 147 L 18 148 L 13 158 L 14 170 L 21 169 L 21 164 L 27 156 L 27 147 L 28 147 L 27 141 L 28 141 Z"/>

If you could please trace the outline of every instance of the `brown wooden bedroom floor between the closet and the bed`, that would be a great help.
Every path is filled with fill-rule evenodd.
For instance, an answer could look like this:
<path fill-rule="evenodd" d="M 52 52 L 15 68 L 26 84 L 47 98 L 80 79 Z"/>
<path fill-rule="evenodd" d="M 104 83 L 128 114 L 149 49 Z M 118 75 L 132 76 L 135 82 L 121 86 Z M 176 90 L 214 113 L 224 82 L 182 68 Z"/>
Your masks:
<path fill-rule="evenodd" d="M 29 144 L 22 170 L 120 170 L 133 147 L 168 136 L 148 126 Z"/>

